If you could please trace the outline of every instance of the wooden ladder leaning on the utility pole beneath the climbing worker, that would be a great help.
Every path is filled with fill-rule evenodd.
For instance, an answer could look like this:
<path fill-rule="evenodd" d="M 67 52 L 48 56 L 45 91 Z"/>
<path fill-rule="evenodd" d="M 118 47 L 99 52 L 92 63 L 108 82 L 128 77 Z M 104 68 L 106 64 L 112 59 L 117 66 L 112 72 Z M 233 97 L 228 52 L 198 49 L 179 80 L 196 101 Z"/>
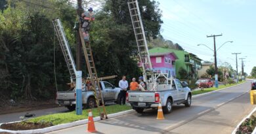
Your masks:
<path fill-rule="evenodd" d="M 96 67 L 95 67 L 95 62 L 93 60 L 93 53 L 91 51 L 91 45 L 89 42 L 85 42 L 83 40 L 83 33 L 81 31 L 81 27 L 79 27 L 79 34 L 80 34 L 80 38 L 81 38 L 81 42 L 82 42 L 82 46 L 83 46 L 83 53 L 85 56 L 85 61 L 87 64 L 87 70 L 89 72 L 89 76 L 91 79 L 91 84 L 93 85 L 93 91 L 95 93 L 95 99 L 96 99 L 96 105 L 98 107 L 98 112 L 100 113 L 100 120 L 103 120 L 103 117 L 101 116 L 101 111 L 100 108 L 103 108 L 103 113 L 106 119 L 108 119 L 108 116 L 106 114 L 106 109 L 105 109 L 105 105 L 104 105 L 104 99 L 102 96 L 102 92 L 101 92 L 101 87 L 100 87 L 100 82 L 98 80 L 98 76 L 96 73 Z M 97 90 L 98 89 L 98 90 Z M 99 96 L 98 96 L 98 93 Z M 100 106 L 100 101 L 102 102 L 102 106 Z"/>

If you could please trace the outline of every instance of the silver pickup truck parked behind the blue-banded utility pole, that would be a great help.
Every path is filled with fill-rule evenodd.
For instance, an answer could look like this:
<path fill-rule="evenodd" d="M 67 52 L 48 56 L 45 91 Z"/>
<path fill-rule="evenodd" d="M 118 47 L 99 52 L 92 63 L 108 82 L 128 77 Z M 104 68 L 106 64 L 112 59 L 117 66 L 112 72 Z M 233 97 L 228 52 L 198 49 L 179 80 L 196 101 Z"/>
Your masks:
<path fill-rule="evenodd" d="M 104 99 L 104 102 L 116 101 L 119 100 L 120 88 L 116 88 L 109 82 L 100 81 L 101 92 Z M 98 92 L 97 92 L 98 93 Z M 64 105 L 69 110 L 75 110 L 75 89 L 72 91 L 66 92 L 57 92 L 56 93 L 56 103 L 58 105 Z M 99 93 L 98 93 L 99 95 Z M 93 91 L 87 91 L 82 89 L 82 101 L 83 107 L 96 107 L 95 95 Z"/>

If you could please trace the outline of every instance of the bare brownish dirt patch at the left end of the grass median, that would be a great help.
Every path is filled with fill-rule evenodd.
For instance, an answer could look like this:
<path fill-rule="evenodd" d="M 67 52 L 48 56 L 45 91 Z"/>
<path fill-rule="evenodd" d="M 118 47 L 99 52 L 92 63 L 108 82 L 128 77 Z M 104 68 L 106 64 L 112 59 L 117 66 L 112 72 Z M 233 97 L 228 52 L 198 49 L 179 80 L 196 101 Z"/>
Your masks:
<path fill-rule="evenodd" d="M 2 124 L 1 129 L 9 129 L 9 130 L 30 130 L 30 129 L 41 129 L 45 127 L 51 127 L 53 124 L 51 122 L 41 122 L 41 123 L 33 123 L 33 122 L 16 122 L 12 124 Z"/>

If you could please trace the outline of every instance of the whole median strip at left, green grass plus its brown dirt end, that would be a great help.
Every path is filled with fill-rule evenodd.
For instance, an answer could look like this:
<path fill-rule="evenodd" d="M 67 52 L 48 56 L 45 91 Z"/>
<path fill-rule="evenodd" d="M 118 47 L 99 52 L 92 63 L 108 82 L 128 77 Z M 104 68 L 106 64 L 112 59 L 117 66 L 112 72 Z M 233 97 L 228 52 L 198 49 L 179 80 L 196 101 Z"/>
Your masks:
<path fill-rule="evenodd" d="M 107 114 L 113 114 L 116 112 L 121 112 L 125 110 L 130 110 L 131 107 L 127 105 L 110 105 L 106 106 L 106 112 Z M 92 109 L 93 116 L 99 116 L 98 109 Z M 56 126 L 58 124 L 66 124 L 70 122 L 75 122 L 77 120 L 83 120 L 88 118 L 88 109 L 83 110 L 82 115 L 76 115 L 75 111 L 72 112 L 65 112 L 65 113 L 58 113 L 58 114 L 49 114 L 45 116 L 39 116 L 36 118 L 32 118 L 30 120 L 26 120 L 23 122 L 18 122 L 16 124 L 3 124 L 1 126 L 2 129 L 11 129 L 11 130 L 17 130 L 17 129 L 33 129 L 34 128 L 44 128 L 44 127 L 50 127 L 50 126 Z M 28 124 L 30 124 L 30 127 L 27 127 Z M 42 124 L 48 124 L 48 126 L 42 126 Z M 42 126 L 42 127 L 40 127 Z M 17 128 L 18 127 L 18 128 Z"/>

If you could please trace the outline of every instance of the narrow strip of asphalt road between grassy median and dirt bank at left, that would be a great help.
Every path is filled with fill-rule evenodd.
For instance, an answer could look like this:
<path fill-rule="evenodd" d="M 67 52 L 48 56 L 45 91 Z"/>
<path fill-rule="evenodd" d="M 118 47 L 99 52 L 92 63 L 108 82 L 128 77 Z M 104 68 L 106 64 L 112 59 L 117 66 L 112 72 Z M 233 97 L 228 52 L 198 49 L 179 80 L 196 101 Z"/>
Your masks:
<path fill-rule="evenodd" d="M 43 116 L 47 114 L 54 114 L 58 112 L 67 112 L 66 107 L 58 107 L 53 109 L 41 109 L 41 110 L 30 110 L 26 112 L 15 112 L 11 114 L 1 114 L 0 115 L 0 124 L 6 122 L 16 122 L 20 120 L 20 116 L 24 116 L 26 113 L 35 114 L 37 116 Z"/>

